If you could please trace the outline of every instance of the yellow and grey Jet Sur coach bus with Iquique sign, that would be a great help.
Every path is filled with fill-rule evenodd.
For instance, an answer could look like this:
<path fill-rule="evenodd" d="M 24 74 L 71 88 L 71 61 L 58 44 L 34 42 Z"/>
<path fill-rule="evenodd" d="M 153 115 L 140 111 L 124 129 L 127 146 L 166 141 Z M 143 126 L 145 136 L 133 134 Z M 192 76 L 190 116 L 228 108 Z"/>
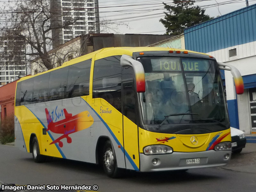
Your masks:
<path fill-rule="evenodd" d="M 21 78 L 15 145 L 45 156 L 102 164 L 110 177 L 222 166 L 231 155 L 219 69 L 204 53 L 158 47 L 104 48 Z"/>

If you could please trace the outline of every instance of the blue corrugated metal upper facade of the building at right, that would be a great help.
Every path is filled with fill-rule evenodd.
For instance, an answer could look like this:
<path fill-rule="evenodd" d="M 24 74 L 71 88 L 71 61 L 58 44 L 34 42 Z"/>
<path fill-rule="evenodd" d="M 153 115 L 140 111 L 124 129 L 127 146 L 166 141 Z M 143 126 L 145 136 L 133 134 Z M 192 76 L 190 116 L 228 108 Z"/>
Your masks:
<path fill-rule="evenodd" d="M 184 29 L 185 47 L 212 52 L 256 41 L 256 4 Z"/>

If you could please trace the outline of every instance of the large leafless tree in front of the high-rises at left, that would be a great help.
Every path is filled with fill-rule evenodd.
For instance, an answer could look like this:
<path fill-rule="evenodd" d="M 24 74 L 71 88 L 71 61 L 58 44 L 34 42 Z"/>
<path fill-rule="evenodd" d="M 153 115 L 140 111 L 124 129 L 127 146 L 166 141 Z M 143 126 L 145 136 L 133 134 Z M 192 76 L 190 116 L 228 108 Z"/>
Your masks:
<path fill-rule="evenodd" d="M 63 8 L 60 3 L 60 0 L 12 0 L 0 8 L 0 10 L 2 9 L 0 16 L 3 21 L 0 23 L 1 36 L 9 40 L 24 42 L 27 63 L 36 62 L 39 66 L 38 72 L 61 65 L 69 59 L 70 55 L 75 58 L 84 54 L 81 51 L 81 46 L 69 46 L 68 49 L 58 48 L 59 45 L 61 46 L 64 43 L 60 36 L 63 36 L 63 29 L 67 29 L 63 32 L 65 35 L 68 29 L 74 29 L 75 26 L 79 26 L 79 23 L 85 25 L 86 22 L 82 18 L 97 9 L 98 4 L 95 3 L 95 7 L 87 9 L 81 7 L 81 3 L 78 3 L 77 0 L 68 1 L 68 4 L 73 5 L 73 8 Z M 99 33 L 100 28 L 103 30 L 115 30 L 117 28 L 117 26 L 113 27 L 114 22 L 100 20 L 99 12 L 96 12 L 95 15 L 95 22 L 90 22 L 94 25 L 86 26 L 87 29 L 81 28 L 81 30 L 84 30 L 79 31 L 81 34 L 85 34 L 86 31 L 87 33 Z M 65 21 L 62 18 L 63 20 L 65 18 Z M 120 23 L 117 25 L 126 24 Z M 73 34 L 72 38 L 74 37 Z M 83 39 L 83 41 L 86 41 L 86 39 Z M 8 55 L 16 54 L 17 50 L 15 49 L 12 49 L 12 52 L 8 51 Z"/>

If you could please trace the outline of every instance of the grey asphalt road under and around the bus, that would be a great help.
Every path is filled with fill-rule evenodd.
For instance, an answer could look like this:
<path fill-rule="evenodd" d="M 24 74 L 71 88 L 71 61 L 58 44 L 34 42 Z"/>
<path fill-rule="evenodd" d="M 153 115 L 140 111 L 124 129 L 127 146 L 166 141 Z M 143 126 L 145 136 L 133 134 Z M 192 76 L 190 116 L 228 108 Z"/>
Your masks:
<path fill-rule="evenodd" d="M 256 144 L 252 145 L 251 148 L 256 149 Z M 255 157 L 256 152 L 248 152 L 245 149 L 240 155 L 232 158 L 230 165 L 223 168 L 191 169 L 183 173 L 137 173 L 122 179 L 110 179 L 94 164 L 66 159 L 36 164 L 31 154 L 14 146 L 0 145 L 0 180 L 19 185 L 97 184 L 98 191 L 101 192 L 255 192 L 256 172 L 243 172 L 241 168 L 251 166 L 255 169 Z M 232 167 L 236 167 L 236 164 L 242 170 L 234 171 Z"/>

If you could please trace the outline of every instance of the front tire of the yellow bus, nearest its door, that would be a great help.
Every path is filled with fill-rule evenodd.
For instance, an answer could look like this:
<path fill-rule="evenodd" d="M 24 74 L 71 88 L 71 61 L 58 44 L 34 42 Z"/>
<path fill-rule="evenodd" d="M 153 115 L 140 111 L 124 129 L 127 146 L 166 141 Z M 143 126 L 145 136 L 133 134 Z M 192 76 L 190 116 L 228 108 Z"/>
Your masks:
<path fill-rule="evenodd" d="M 108 177 L 118 178 L 120 176 L 120 170 L 117 168 L 116 156 L 109 140 L 105 142 L 102 156 L 105 173 Z"/>

